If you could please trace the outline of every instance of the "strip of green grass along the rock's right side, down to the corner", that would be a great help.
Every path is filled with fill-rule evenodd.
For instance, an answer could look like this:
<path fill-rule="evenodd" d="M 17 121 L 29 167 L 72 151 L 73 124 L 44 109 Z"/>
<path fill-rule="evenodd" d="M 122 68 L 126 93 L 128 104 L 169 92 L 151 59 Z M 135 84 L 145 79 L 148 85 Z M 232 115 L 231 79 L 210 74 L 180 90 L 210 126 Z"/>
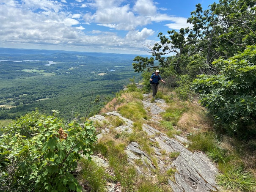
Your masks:
<path fill-rule="evenodd" d="M 256 191 L 256 179 L 252 173 L 244 170 L 242 157 L 238 154 L 227 154 L 218 147 L 214 133 L 192 134 L 188 139 L 190 149 L 206 152 L 209 158 L 217 163 L 222 172 L 217 176 L 217 184 L 226 190 L 236 192 Z"/>

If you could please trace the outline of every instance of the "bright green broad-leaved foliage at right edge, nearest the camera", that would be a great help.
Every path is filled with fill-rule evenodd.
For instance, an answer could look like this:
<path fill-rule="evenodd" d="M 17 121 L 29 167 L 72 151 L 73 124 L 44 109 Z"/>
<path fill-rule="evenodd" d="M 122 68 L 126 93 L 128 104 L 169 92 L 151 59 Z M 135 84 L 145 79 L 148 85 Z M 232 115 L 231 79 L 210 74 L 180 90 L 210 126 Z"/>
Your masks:
<path fill-rule="evenodd" d="M 256 46 L 228 60 L 214 62 L 217 75 L 201 75 L 193 82 L 193 89 L 200 94 L 200 103 L 215 121 L 228 124 L 227 129 L 239 128 L 256 121 Z"/>

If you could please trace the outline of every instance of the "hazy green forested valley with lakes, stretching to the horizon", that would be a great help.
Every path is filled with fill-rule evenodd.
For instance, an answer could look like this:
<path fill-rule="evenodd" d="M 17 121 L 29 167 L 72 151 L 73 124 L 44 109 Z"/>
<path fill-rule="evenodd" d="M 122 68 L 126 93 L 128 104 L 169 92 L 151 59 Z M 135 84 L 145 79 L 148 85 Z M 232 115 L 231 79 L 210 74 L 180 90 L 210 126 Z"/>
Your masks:
<path fill-rule="evenodd" d="M 135 73 L 136 55 L 0 48 L 0 119 L 38 109 L 66 119 L 95 114 Z"/>

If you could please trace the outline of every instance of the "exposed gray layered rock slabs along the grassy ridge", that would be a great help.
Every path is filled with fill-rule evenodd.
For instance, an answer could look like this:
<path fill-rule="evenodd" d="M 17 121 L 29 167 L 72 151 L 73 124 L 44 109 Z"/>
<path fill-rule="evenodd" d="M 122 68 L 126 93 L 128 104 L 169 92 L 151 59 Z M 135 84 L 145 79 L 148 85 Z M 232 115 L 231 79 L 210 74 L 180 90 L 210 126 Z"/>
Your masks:
<path fill-rule="evenodd" d="M 160 112 L 165 111 L 165 102 L 162 99 L 156 99 L 154 103 L 147 100 L 148 94 L 144 94 L 145 100 L 143 101 L 144 107 L 151 116 L 155 116 L 155 121 L 159 120 Z M 115 115 L 121 118 L 125 125 L 116 127 L 118 132 L 132 132 L 133 122 L 127 118 L 122 117 L 118 112 L 108 112 L 106 115 Z M 102 115 L 95 115 L 91 120 L 105 121 Z M 151 170 L 160 169 L 165 172 L 172 168 L 176 170 L 174 180 L 169 179 L 168 184 L 174 192 L 217 192 L 220 188 L 217 186 L 215 177 L 218 170 L 209 158 L 201 152 L 191 152 L 184 144 L 188 143 L 187 139 L 178 135 L 174 138 L 169 138 L 164 133 L 155 129 L 152 126 L 144 123 L 142 129 L 148 136 L 150 142 L 154 144 L 152 149 L 154 153 L 150 155 L 143 151 L 138 143 L 131 142 L 127 145 L 125 153 L 128 157 L 128 162 L 135 165 L 138 174 L 145 176 L 155 177 Z M 107 134 L 107 131 L 102 132 Z M 163 154 L 176 153 L 178 156 L 175 160 L 168 158 L 162 159 Z M 166 156 L 165 156 L 166 157 Z M 157 159 L 157 165 L 154 165 L 153 158 Z M 136 165 L 136 161 L 141 161 L 143 167 Z M 97 162 L 103 164 L 105 167 L 107 162 L 102 162 L 97 159 Z M 146 167 L 146 168 L 145 168 Z M 113 189 L 113 188 L 112 188 Z"/>

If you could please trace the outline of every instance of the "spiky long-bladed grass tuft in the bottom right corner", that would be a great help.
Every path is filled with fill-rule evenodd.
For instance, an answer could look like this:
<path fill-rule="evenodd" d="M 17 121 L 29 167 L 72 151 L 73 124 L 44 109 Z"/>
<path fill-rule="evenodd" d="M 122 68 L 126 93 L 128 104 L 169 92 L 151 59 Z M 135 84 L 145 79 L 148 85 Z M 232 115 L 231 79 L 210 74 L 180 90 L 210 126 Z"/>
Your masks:
<path fill-rule="evenodd" d="M 242 168 L 230 169 L 217 176 L 217 184 L 232 191 L 256 191 L 256 180 L 253 174 Z"/>

